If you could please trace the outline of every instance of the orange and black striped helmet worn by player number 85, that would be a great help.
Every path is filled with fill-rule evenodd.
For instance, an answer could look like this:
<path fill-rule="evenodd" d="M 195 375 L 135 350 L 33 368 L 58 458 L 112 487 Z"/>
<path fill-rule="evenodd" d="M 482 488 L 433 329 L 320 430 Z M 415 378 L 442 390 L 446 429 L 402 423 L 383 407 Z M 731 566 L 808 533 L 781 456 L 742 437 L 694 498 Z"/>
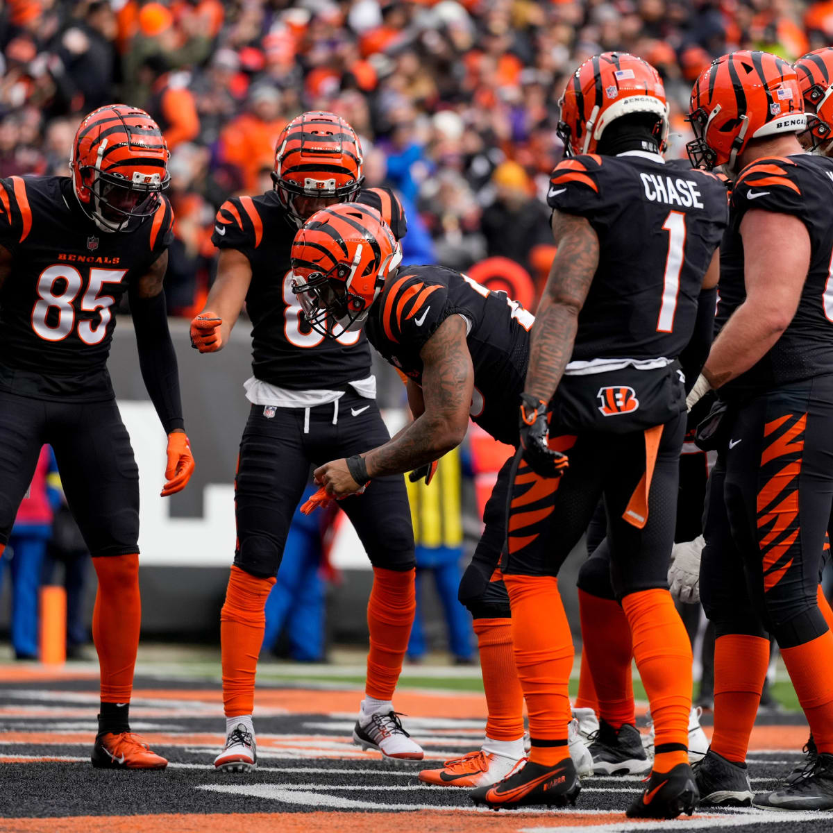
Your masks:
<path fill-rule="evenodd" d="M 137 107 L 108 104 L 78 127 L 69 167 L 75 196 L 103 232 L 132 232 L 159 206 L 170 153 L 159 125 Z"/>

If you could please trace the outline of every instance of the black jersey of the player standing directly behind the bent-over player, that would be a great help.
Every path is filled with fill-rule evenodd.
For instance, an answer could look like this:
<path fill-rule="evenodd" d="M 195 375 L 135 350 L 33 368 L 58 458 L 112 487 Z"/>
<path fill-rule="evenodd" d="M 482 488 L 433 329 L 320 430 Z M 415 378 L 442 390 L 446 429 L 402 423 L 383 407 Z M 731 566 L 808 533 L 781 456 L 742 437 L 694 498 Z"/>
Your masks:
<path fill-rule="evenodd" d="M 405 215 L 387 188 L 359 193 L 364 202 L 392 217 L 392 232 L 402 239 Z M 292 293 L 290 253 L 297 227 L 289 221 L 277 194 L 232 197 L 214 222 L 212 242 L 237 249 L 252 266 L 246 308 L 252 320 L 252 373 L 257 379 L 291 390 L 338 389 L 371 375 L 370 349 L 362 331 L 336 339 L 322 336 L 307 323 Z"/>

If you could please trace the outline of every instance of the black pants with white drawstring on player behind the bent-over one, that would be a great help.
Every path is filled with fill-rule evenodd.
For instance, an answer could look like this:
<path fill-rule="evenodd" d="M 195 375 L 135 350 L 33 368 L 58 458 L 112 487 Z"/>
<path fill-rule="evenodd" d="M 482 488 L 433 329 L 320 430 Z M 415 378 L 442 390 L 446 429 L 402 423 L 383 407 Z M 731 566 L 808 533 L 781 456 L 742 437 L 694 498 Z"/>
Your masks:
<path fill-rule="evenodd" d="M 234 563 L 259 578 L 277 575 L 292 515 L 311 464 L 353 456 L 390 439 L 372 399 L 348 390 L 311 408 L 252 405 L 240 442 L 235 480 Z M 339 501 L 373 566 L 416 566 L 411 510 L 402 475 L 376 477 L 362 495 Z"/>

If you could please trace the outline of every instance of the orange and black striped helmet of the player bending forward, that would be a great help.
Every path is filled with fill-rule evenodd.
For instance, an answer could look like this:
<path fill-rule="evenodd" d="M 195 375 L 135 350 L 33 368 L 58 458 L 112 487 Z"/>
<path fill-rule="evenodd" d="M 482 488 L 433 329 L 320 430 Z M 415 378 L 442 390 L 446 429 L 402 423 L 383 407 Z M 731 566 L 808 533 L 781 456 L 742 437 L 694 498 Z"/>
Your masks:
<path fill-rule="evenodd" d="M 361 329 L 401 261 L 402 248 L 375 208 L 359 202 L 329 206 L 295 235 L 292 292 L 310 325 L 337 338 Z"/>

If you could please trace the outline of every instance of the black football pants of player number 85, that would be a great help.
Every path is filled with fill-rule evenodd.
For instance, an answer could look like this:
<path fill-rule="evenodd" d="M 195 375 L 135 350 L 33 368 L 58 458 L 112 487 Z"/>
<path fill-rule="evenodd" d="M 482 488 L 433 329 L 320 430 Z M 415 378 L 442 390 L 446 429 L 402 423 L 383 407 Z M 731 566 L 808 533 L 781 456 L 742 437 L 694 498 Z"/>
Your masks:
<path fill-rule="evenodd" d="M 92 556 L 138 552 L 139 470 L 116 401 L 46 401 L 6 392 L 0 392 L 0 544 L 8 542 L 47 444 Z"/>

